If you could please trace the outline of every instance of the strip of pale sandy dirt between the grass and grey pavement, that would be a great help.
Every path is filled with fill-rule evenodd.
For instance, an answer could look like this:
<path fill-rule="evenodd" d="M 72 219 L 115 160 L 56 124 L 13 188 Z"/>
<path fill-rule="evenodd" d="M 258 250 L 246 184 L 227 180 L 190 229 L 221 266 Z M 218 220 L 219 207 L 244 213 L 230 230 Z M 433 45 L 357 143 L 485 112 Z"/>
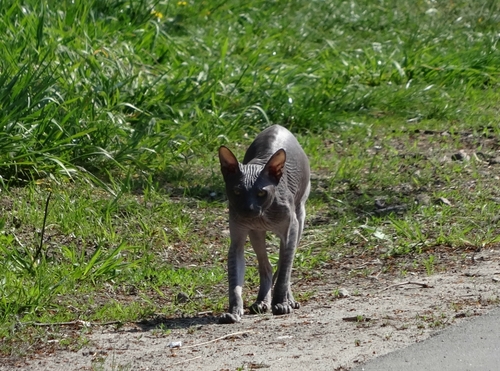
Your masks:
<path fill-rule="evenodd" d="M 294 291 L 313 294 L 291 315 L 91 326 L 78 351 L 6 360 L 0 370 L 349 370 L 499 304 L 500 248 L 455 255 L 441 254 L 434 274 L 405 277 L 378 259 L 342 260 L 316 283 L 294 282 Z M 369 275 L 347 274 L 367 267 Z"/>

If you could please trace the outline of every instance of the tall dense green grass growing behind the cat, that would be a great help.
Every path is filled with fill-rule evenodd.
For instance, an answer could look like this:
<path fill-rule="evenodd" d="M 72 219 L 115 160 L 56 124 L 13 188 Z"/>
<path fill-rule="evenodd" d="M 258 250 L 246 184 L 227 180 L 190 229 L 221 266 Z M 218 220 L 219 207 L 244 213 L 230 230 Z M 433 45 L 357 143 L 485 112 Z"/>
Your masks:
<path fill-rule="evenodd" d="M 166 173 L 269 122 L 460 119 L 469 87 L 498 84 L 499 7 L 4 2 L 2 180 Z"/>

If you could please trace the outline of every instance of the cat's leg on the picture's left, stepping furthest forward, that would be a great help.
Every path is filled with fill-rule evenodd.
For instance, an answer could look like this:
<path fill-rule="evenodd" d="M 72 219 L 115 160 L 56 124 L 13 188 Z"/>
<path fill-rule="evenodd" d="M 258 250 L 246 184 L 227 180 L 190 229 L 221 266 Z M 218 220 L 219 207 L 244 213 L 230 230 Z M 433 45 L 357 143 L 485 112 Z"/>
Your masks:
<path fill-rule="evenodd" d="M 219 317 L 219 323 L 236 323 L 243 316 L 243 299 L 241 297 L 243 282 L 245 279 L 245 257 L 244 247 L 248 235 L 247 231 L 231 227 L 231 245 L 227 258 L 227 270 L 229 279 L 229 311 Z"/>

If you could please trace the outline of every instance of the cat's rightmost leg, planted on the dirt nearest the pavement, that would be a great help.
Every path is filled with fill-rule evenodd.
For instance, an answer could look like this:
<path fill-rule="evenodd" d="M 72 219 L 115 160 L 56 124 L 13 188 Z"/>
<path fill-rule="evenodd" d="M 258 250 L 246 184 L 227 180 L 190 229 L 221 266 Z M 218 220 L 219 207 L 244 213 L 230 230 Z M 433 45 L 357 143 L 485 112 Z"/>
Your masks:
<path fill-rule="evenodd" d="M 293 258 L 299 235 L 299 222 L 295 215 L 292 216 L 288 231 L 281 239 L 280 257 L 276 284 L 272 300 L 272 311 L 274 315 L 289 314 L 294 309 L 298 309 L 300 304 L 296 302 L 290 287 L 290 277 L 292 275 Z"/>

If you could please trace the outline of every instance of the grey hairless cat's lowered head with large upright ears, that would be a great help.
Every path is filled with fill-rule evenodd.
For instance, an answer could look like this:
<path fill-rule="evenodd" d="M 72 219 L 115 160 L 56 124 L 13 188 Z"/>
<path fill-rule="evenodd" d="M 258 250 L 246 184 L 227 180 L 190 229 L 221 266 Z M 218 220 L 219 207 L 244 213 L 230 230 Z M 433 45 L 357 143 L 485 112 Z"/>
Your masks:
<path fill-rule="evenodd" d="M 241 164 L 227 147 L 222 146 L 219 161 L 233 210 L 247 218 L 262 215 L 276 196 L 276 187 L 285 167 L 285 150 L 277 150 L 262 166 Z"/>

